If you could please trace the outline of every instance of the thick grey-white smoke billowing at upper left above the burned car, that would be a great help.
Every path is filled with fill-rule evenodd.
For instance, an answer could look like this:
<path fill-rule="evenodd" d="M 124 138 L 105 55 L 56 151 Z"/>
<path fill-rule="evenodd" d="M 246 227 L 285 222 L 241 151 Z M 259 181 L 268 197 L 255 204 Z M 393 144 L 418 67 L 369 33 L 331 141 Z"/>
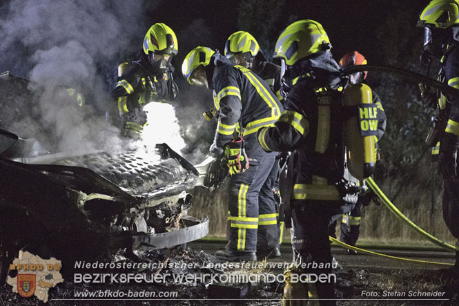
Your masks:
<path fill-rule="evenodd" d="M 141 48 L 143 1 L 12 0 L 1 8 L 0 70 L 32 81 L 39 105 L 30 105 L 57 151 L 118 150 L 118 129 L 106 123 L 106 71 L 124 50 Z M 132 41 L 139 46 L 133 50 Z M 0 71 L 0 72 L 1 72 Z M 86 95 L 77 106 L 67 88 Z M 99 111 L 98 111 L 99 109 Z M 28 118 L 27 118 L 28 119 Z M 28 119 L 29 120 L 29 119 Z M 30 120 L 29 120 L 30 121 Z M 25 126 L 17 122 L 16 127 Z"/>

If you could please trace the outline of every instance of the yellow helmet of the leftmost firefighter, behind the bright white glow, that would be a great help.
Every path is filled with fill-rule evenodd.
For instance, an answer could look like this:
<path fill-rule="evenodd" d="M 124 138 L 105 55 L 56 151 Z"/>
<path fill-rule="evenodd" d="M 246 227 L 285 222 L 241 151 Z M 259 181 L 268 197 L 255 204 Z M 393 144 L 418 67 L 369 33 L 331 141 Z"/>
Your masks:
<path fill-rule="evenodd" d="M 146 32 L 144 38 L 144 52 L 155 52 L 162 55 L 177 55 L 179 45 L 174 31 L 164 23 L 155 23 Z"/>

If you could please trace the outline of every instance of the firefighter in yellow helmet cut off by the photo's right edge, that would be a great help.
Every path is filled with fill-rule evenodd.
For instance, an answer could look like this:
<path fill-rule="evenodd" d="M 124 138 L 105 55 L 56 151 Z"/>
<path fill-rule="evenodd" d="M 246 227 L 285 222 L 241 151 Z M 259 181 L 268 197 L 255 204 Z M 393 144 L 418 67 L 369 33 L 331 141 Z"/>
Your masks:
<path fill-rule="evenodd" d="M 433 0 L 422 10 L 418 26 L 424 28 L 424 46 L 420 61 L 428 64 L 431 58 L 440 59 L 438 80 L 459 89 L 459 3 L 453 0 Z M 456 238 L 456 265 L 459 275 L 459 97 L 442 95 L 438 99 L 438 124 L 442 132 L 438 162 L 444 180 L 443 219 Z M 443 119 L 444 118 L 444 119 Z"/>

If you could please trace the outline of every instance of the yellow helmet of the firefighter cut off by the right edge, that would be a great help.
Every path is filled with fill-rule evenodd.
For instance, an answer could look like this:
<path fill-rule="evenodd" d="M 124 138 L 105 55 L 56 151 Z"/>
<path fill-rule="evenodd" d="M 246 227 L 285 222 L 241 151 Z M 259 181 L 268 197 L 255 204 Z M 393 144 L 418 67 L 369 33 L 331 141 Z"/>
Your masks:
<path fill-rule="evenodd" d="M 459 23 L 458 11 L 457 0 L 432 0 L 422 10 L 418 26 L 433 25 L 440 29 L 449 28 Z"/>

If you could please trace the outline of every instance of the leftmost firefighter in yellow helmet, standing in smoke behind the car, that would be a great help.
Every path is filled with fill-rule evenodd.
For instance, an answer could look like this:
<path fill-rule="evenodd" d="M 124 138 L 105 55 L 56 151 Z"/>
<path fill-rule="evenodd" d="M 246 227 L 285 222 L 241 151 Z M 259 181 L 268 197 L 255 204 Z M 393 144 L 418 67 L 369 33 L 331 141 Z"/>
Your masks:
<path fill-rule="evenodd" d="M 178 50 L 174 31 L 164 23 L 155 23 L 146 32 L 139 59 L 119 65 L 118 82 L 111 95 L 118 102 L 123 119 L 121 129 L 126 137 L 141 137 L 147 124 L 143 109 L 146 104 L 177 97 L 179 90 L 173 80 L 171 61 Z"/>

